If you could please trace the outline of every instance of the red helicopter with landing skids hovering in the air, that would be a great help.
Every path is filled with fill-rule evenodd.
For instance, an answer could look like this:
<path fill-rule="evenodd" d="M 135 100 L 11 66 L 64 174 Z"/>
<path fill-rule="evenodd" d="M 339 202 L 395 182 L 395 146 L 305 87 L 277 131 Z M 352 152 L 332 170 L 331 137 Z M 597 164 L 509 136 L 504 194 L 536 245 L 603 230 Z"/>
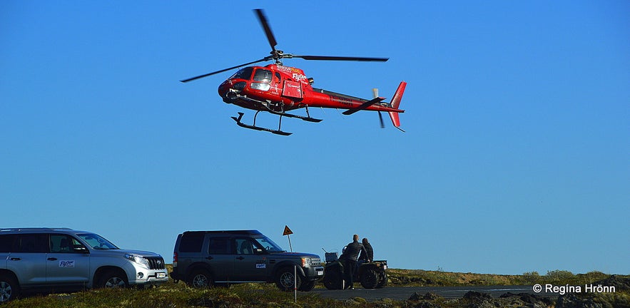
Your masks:
<path fill-rule="evenodd" d="M 343 114 L 351 115 L 357 111 L 378 111 L 381 128 L 384 128 L 381 111 L 387 112 L 392 119 L 393 125 L 400 129 L 399 113 L 405 112 L 399 109 L 402 93 L 405 92 L 407 83 L 402 81 L 398 86 L 394 98 L 390 103 L 386 103 L 385 98 L 379 97 L 377 89 L 374 89 L 374 98 L 371 100 L 347 96 L 341 93 L 326 91 L 320 88 L 313 88 L 313 78 L 308 78 L 304 71 L 300 68 L 283 66 L 283 58 L 303 58 L 305 60 L 332 60 L 332 61 L 387 61 L 389 58 L 362 58 L 362 57 L 346 57 L 346 56 L 299 56 L 290 53 L 284 53 L 275 48 L 278 44 L 275 41 L 273 32 L 263 10 L 255 9 L 261 26 L 267 35 L 269 45 L 271 46 L 270 56 L 258 59 L 249 63 L 243 63 L 238 66 L 225 68 L 220 71 L 206 73 L 193 78 L 184 79 L 181 82 L 187 83 L 199 78 L 223 73 L 234 68 L 241 68 L 234 73 L 228 80 L 223 81 L 218 88 L 218 93 L 225 103 L 233 103 L 237 106 L 253 109 L 256 111 L 252 125 L 241 122 L 244 113 L 239 112 L 238 117 L 232 117 L 236 124 L 243 128 L 253 130 L 264 130 L 278 135 L 290 135 L 291 133 L 281 130 L 283 116 L 288 118 L 299 118 L 309 122 L 320 122 L 321 119 L 312 118 L 308 112 L 309 107 L 320 108 L 342 108 L 347 109 Z M 275 64 L 268 66 L 248 66 L 254 63 L 275 60 Z M 306 116 L 299 116 L 288 113 L 293 109 L 305 108 Z M 256 117 L 260 111 L 267 111 L 280 116 L 278 129 L 263 128 L 256 126 Z M 404 130 L 402 130 L 404 131 Z"/>

